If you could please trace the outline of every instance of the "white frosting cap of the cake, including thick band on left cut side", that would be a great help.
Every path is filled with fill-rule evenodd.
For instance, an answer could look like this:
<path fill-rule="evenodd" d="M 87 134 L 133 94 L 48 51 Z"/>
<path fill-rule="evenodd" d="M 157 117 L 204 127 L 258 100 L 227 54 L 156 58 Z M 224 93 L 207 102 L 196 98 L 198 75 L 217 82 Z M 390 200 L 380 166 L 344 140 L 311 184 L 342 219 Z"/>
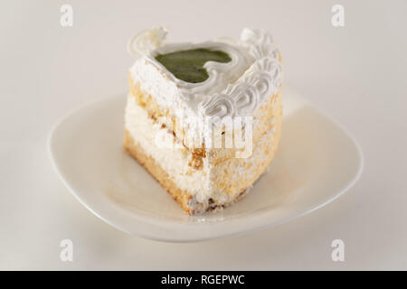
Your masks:
<path fill-rule="evenodd" d="M 170 107 L 178 117 L 251 116 L 270 95 L 277 92 L 282 80 L 279 50 L 269 33 L 244 29 L 237 43 L 219 39 L 216 42 L 166 44 L 166 29 L 158 27 L 137 33 L 128 50 L 137 55 L 130 68 L 134 81 L 156 98 L 163 107 Z M 175 76 L 156 61 L 158 53 L 194 48 L 220 50 L 232 61 L 207 61 L 208 79 L 189 83 Z"/>

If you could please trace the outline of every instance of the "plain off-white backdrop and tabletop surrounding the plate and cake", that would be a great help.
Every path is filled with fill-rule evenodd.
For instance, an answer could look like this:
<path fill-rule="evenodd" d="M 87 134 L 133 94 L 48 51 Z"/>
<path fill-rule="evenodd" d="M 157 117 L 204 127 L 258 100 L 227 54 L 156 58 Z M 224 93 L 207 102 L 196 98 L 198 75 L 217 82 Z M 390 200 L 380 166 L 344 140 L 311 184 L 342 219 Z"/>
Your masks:
<path fill-rule="evenodd" d="M 0 5 L 0 269 L 407 269 L 406 1 L 109 3 Z M 60 25 L 62 4 L 73 7 L 71 28 Z M 335 4 L 343 28 L 331 24 Z M 128 38 L 160 24 L 171 41 L 273 33 L 285 85 L 361 144 L 360 181 L 304 218 L 203 243 L 131 237 L 93 216 L 53 172 L 47 136 L 72 108 L 126 91 Z M 63 238 L 71 263 L 59 257 Z M 343 263 L 331 260 L 336 238 Z"/>

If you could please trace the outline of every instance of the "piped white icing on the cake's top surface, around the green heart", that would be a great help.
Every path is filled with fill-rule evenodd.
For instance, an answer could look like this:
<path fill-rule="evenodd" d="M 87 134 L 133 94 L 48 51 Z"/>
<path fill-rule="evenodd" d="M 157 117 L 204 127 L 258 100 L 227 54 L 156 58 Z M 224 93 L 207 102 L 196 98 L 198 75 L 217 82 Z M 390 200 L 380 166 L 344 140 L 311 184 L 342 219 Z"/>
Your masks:
<path fill-rule="evenodd" d="M 282 82 L 280 54 L 270 33 L 243 29 L 237 44 L 203 42 L 165 44 L 164 27 L 137 33 L 128 44 L 132 55 L 141 55 L 175 82 L 181 97 L 196 106 L 203 117 L 250 116 L 264 98 L 275 94 Z M 209 78 L 200 83 L 188 83 L 166 70 L 156 61 L 157 53 L 193 48 L 212 48 L 227 52 L 231 62 L 208 61 L 204 68 Z M 219 88 L 222 92 L 219 91 Z"/>

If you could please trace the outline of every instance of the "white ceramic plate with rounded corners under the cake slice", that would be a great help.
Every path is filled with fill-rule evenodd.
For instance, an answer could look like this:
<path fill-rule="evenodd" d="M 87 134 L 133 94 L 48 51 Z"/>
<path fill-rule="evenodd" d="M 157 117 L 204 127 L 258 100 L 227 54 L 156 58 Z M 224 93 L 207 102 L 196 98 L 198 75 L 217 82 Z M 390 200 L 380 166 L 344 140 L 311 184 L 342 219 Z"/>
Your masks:
<path fill-rule="evenodd" d="M 274 162 L 243 200 L 220 212 L 187 216 L 123 151 L 126 94 L 64 117 L 50 136 L 52 163 L 86 208 L 129 234 L 187 242 L 275 226 L 335 200 L 363 168 L 359 145 L 344 128 L 290 89 L 283 99 Z"/>

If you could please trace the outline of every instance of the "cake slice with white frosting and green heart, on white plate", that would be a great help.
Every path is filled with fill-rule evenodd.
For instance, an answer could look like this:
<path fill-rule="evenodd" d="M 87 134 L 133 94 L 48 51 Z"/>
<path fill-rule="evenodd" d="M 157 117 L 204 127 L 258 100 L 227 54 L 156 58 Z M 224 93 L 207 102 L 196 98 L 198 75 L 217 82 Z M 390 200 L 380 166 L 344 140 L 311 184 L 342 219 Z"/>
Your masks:
<path fill-rule="evenodd" d="M 188 214 L 240 200 L 271 163 L 281 126 L 281 57 L 269 33 L 166 43 L 137 33 L 124 147 Z"/>

